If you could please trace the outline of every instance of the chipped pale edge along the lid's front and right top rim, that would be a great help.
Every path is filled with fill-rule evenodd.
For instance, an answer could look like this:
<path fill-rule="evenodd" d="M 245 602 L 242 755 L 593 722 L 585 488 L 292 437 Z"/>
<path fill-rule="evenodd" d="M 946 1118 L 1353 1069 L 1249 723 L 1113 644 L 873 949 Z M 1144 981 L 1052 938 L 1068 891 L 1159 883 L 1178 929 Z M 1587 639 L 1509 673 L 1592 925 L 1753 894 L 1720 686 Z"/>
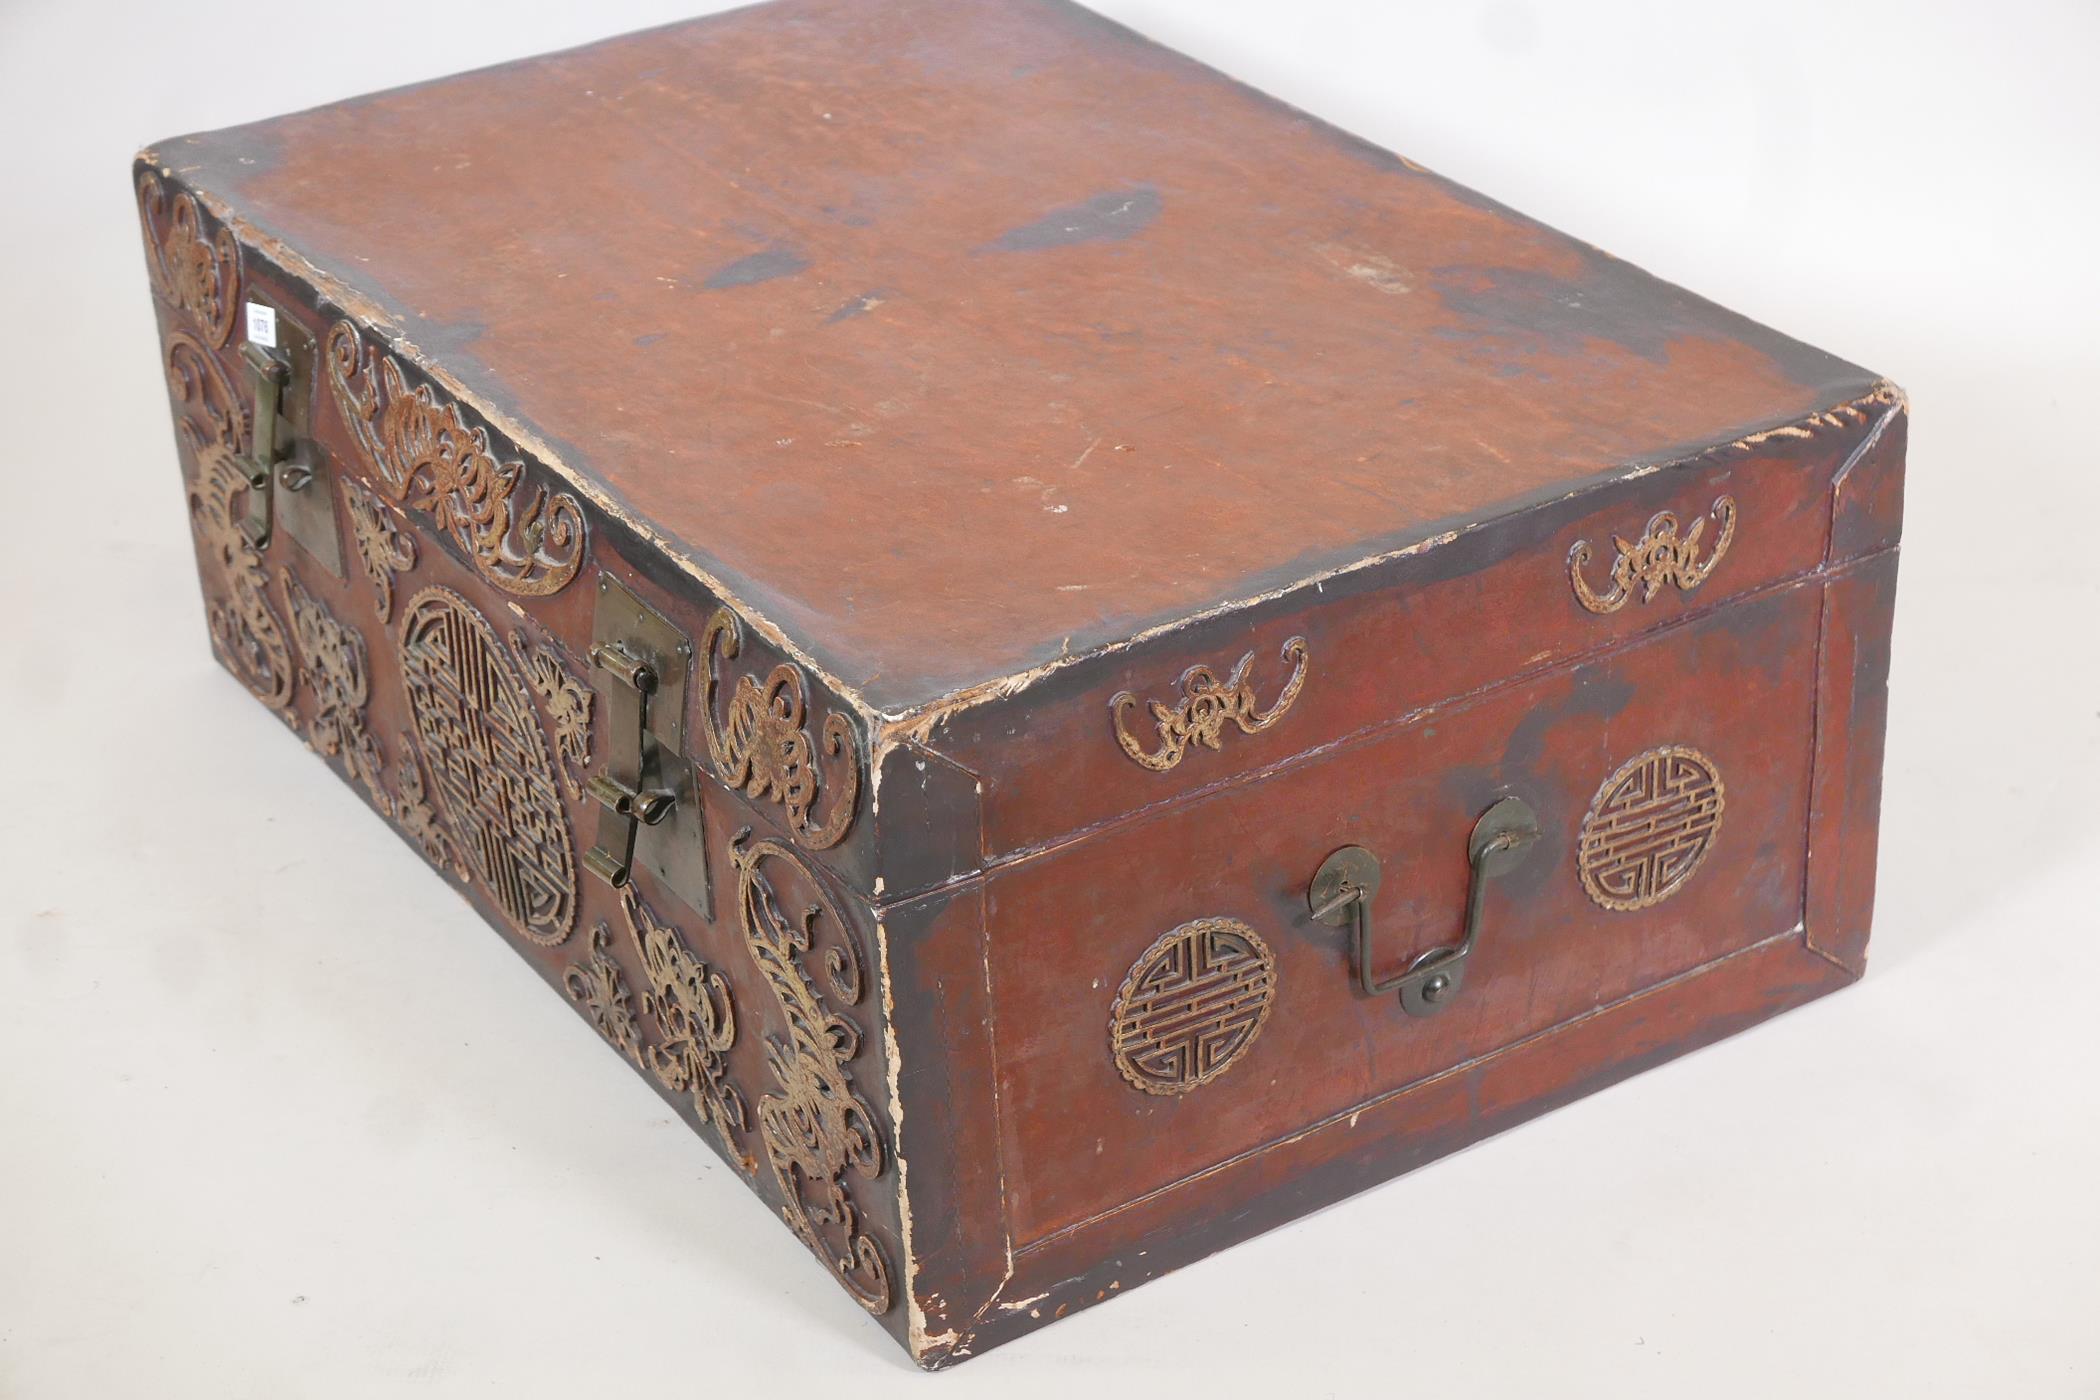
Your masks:
<path fill-rule="evenodd" d="M 153 147 L 147 147 L 147 149 L 139 151 L 136 160 L 143 162 L 143 164 L 158 166 L 160 172 L 166 178 L 183 178 L 183 176 L 187 176 L 187 170 L 168 166 L 160 157 L 158 149 L 153 149 Z M 328 300 L 332 300 L 338 306 L 342 306 L 344 313 L 349 313 L 353 319 L 361 321 L 374 334 L 384 334 L 386 336 L 386 348 L 391 353 L 401 355 L 412 365 L 416 365 L 416 369 L 420 374 L 424 374 L 433 382 L 441 384 L 445 388 L 445 393 L 449 393 L 452 397 L 456 397 L 456 399 L 464 401 L 466 405 L 470 405 L 481 420 L 485 420 L 498 432 L 502 432 L 504 437 L 508 437 L 519 449 L 529 451 L 538 460 L 538 464 L 542 468 L 546 468 L 554 476 L 561 476 L 575 491 L 580 491 L 582 495 L 586 495 L 601 512 L 605 512 L 607 516 L 620 521 L 624 527 L 632 529 L 638 537 L 643 537 L 645 542 L 653 544 L 664 558 L 672 560 L 680 571 L 685 571 L 701 588 L 706 588 L 710 594 L 714 594 L 724 604 L 729 604 L 731 609 L 735 609 L 743 617 L 743 621 L 754 632 L 758 632 L 758 636 L 762 636 L 766 642 L 771 642 L 773 646 L 777 646 L 785 657 L 790 657 L 792 661 L 796 661 L 798 665 L 802 665 L 804 670 L 808 670 L 840 701 L 844 701 L 848 707 L 853 707 L 859 714 L 861 722 L 865 724 L 865 728 L 869 733 L 869 754 L 867 754 L 869 775 L 867 777 L 869 777 L 869 789 L 872 789 L 872 793 L 878 793 L 878 789 L 880 789 L 880 783 L 882 783 L 882 758 L 890 749 L 895 749 L 895 747 L 899 747 L 903 743 L 926 743 L 934 728 L 939 728 L 949 718 L 962 714 L 964 709 L 972 709 L 976 705 L 987 705 L 987 703 L 993 703 L 993 701 L 1010 699 L 1010 697 L 1021 695 L 1023 691 L 1031 688 L 1033 684 L 1037 684 L 1037 682 L 1042 682 L 1042 680 L 1046 680 L 1046 678 L 1050 678 L 1050 676 L 1054 676 L 1054 674 L 1058 674 L 1058 672 L 1063 672 L 1067 667 L 1082 665 L 1082 663 L 1094 661 L 1098 657 L 1109 657 L 1109 655 L 1117 655 L 1117 653 L 1124 653 L 1124 651 L 1132 651 L 1136 646 L 1153 642 L 1153 640 L 1157 640 L 1161 636 L 1168 636 L 1172 632 L 1180 632 L 1184 628 L 1193 628 L 1197 623 L 1212 621 L 1214 617 L 1224 617 L 1224 615 L 1231 615 L 1231 613 L 1241 613 L 1241 611 L 1260 607 L 1264 602 L 1273 602 L 1277 598 L 1285 598 L 1285 596 L 1289 596 L 1294 592 L 1300 592 L 1304 588 L 1323 588 L 1331 579 L 1346 577 L 1346 575 L 1359 573 L 1363 569 L 1378 569 L 1380 565 L 1388 565 L 1392 560 L 1407 558 L 1411 554 L 1426 554 L 1430 550 L 1436 550 L 1436 548 L 1443 548 L 1443 546 L 1451 544 L 1460 535 L 1466 535 L 1466 533 L 1472 533 L 1476 529 L 1483 529 L 1485 525 L 1493 525 L 1493 523 L 1506 518 L 1508 514 L 1518 514 L 1518 510 L 1508 510 L 1508 512 L 1499 512 L 1495 516 L 1485 516 L 1480 521 L 1464 525 L 1462 529 L 1449 529 L 1449 531 L 1443 531 L 1438 535 L 1430 535 L 1426 539 L 1418 539 L 1413 544 L 1401 546 L 1396 550 L 1386 550 L 1386 552 L 1380 552 L 1380 554 L 1365 556 L 1361 560 L 1352 560 L 1348 565 L 1336 565 L 1331 569 L 1321 569 L 1321 571 L 1310 573 L 1310 575 L 1306 575 L 1302 579 L 1296 579 L 1292 584 L 1283 584 L 1283 586 L 1268 588 L 1268 590 L 1262 590 L 1262 592 L 1256 592 L 1256 594 L 1245 594 L 1241 598 L 1231 598 L 1231 600 L 1224 600 L 1224 602 L 1216 602 L 1212 607 L 1205 607 L 1205 609 L 1199 609 L 1199 611 L 1193 611 L 1193 613 L 1184 613 L 1184 615 L 1174 617 L 1170 621 L 1163 621 L 1163 623 L 1157 623 L 1153 628 L 1144 628 L 1140 632 L 1134 632 L 1128 638 L 1119 638 L 1119 640 L 1113 640 L 1113 642 L 1102 642 L 1102 644 L 1090 646 L 1086 651 L 1065 653 L 1065 655 L 1054 657 L 1050 661 L 1044 661 L 1044 663 L 1037 663 L 1037 665 L 1031 665 L 1031 667 L 1025 667 L 1025 670 L 1018 670 L 1018 672 L 1010 672 L 1008 676 L 1000 676 L 995 680 L 976 682 L 976 684 L 970 684 L 970 686 L 962 686 L 962 688 L 949 691 L 949 693 L 939 695 L 934 699 L 928 699 L 928 701 L 922 701 L 918 705 L 911 705 L 909 709 L 884 712 L 884 709 L 876 709 L 859 691 L 855 691 L 853 686 L 844 684 L 838 676 L 834 676 L 823 665 L 819 665 L 815 661 L 815 657 L 811 657 L 808 651 L 804 651 L 800 644 L 796 644 L 796 640 L 779 623 L 775 623 L 773 619 L 769 619 L 764 613 L 756 611 L 746 598 L 741 598 L 735 590 L 731 590 L 722 581 L 720 575 L 712 573 L 697 558 L 693 558 L 685 550 L 676 548 L 649 521 L 645 521 L 645 518 L 636 516 L 634 512 L 622 508 L 605 487 L 601 487 L 598 483 L 594 483 L 592 479 L 588 479 L 584 472 L 580 472 L 578 468 L 573 468 L 567 462 L 563 462 L 561 453 L 556 453 L 540 434 L 536 434 L 531 428 L 527 428 L 523 422 L 519 422 L 510 413 L 504 413 L 502 409 L 489 405 L 483 399 L 483 395 L 479 395 L 468 384 L 460 382 L 454 374 L 449 374 L 437 361 L 433 361 L 428 355 L 424 355 L 422 348 L 414 340 L 407 338 L 405 330 L 401 330 L 395 323 L 393 315 L 386 313 L 378 302 L 374 302 L 370 296 L 357 292 L 355 288 L 351 288 L 349 283 L 344 283 L 334 273 L 328 273 L 326 269 L 317 267 L 309 258 L 300 256 L 296 250 L 292 250 L 290 246 L 286 246 L 284 239 L 279 239 L 279 237 L 262 231 L 260 227 L 256 227 L 254 222 L 250 222 L 248 218 L 244 218 L 239 212 L 233 210 L 233 206 L 227 199 L 218 197 L 216 193 L 212 193 L 208 189 L 202 189 L 202 187 L 195 187 L 195 185 L 191 185 L 187 181 L 185 181 L 185 187 L 189 189 L 189 193 L 218 222 L 223 222 L 225 227 L 233 229 L 235 237 L 244 246 L 252 248 L 260 256 L 269 258 L 271 262 L 275 262 L 279 267 L 279 271 L 304 279 L 319 296 L 326 296 Z M 1590 481 L 1581 483 L 1579 487 L 1573 487 L 1573 489 L 1564 491 L 1562 495 L 1556 495 L 1556 497 L 1550 497 L 1550 500 L 1527 502 L 1520 510 L 1537 510 L 1539 506 L 1550 506 L 1550 504 L 1556 504 L 1556 502 L 1562 502 L 1562 500 L 1573 500 L 1577 495 L 1586 495 L 1590 491 L 1604 489 L 1604 487 L 1609 487 L 1613 483 L 1636 481 L 1640 476 L 1651 476 L 1651 474 L 1661 472 L 1661 470 L 1670 470 L 1670 468 L 1684 466 L 1684 464 L 1690 464 L 1690 462 L 1707 460 L 1707 458 L 1712 458 L 1712 455 L 1716 455 L 1720 451 L 1730 451 L 1730 449 L 1751 451 L 1758 445 L 1762 445 L 1762 443 L 1766 443 L 1770 439 L 1779 439 L 1779 437 L 1808 439 L 1808 437 L 1814 437 L 1816 428 L 1838 426 L 1846 416 L 1852 416 L 1852 418 L 1863 416 L 1863 405 L 1869 405 L 1869 403 L 1888 403 L 1888 405 L 1894 405 L 1898 409 L 1907 407 L 1907 399 L 1905 399 L 1903 390 L 1896 384 L 1892 384 L 1890 380 L 1884 378 L 1884 380 L 1877 380 L 1873 384 L 1873 388 L 1869 388 L 1858 399 L 1848 399 L 1846 403 L 1831 405 L 1829 409 L 1806 413 L 1802 418 L 1789 420 L 1789 422 L 1772 426 L 1772 428 L 1762 428 L 1758 432 L 1739 437 L 1739 439 L 1735 439 L 1730 443 L 1716 443 L 1716 445 L 1709 445 L 1709 447 L 1701 447 L 1697 451 L 1688 451 L 1688 453 L 1684 453 L 1680 458 L 1670 458 L 1665 462 L 1644 462 L 1640 466 L 1634 466 L 1630 470 L 1623 470 L 1623 472 L 1617 472 L 1617 474 L 1611 474 L 1611 476 L 1590 479 Z"/>

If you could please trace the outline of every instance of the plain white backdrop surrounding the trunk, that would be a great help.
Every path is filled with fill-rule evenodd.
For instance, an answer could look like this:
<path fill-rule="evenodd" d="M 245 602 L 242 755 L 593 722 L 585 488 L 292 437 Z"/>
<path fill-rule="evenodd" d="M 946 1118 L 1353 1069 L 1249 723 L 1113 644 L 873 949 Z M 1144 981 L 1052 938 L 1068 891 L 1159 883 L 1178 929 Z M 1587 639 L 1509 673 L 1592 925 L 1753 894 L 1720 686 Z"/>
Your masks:
<path fill-rule="evenodd" d="M 1098 0 L 1913 397 L 1869 978 L 918 1379 L 210 661 L 128 157 L 695 0 L 0 0 L 0 1396 L 2100 1396 L 2100 8 Z"/>

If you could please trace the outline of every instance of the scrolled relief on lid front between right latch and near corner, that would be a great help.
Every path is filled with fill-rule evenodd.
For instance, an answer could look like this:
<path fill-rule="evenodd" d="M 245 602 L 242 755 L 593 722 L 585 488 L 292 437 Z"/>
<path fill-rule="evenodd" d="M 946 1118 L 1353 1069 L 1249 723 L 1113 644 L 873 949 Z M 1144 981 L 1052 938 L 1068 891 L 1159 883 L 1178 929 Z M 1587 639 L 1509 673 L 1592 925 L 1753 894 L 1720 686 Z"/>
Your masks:
<path fill-rule="evenodd" d="M 861 802 L 861 745 L 853 722 L 836 709 L 823 718 L 823 751 L 840 762 L 832 768 L 838 775 L 832 812 L 813 823 L 811 808 L 823 796 L 825 779 L 806 728 L 808 682 L 788 661 L 775 665 L 762 684 L 743 674 L 731 691 L 729 714 L 718 718 L 720 661 L 735 661 L 741 649 L 743 628 L 735 613 L 716 609 L 699 640 L 699 714 L 714 772 L 750 798 L 773 798 L 785 806 L 796 840 L 811 850 L 830 850 L 846 837 Z"/>

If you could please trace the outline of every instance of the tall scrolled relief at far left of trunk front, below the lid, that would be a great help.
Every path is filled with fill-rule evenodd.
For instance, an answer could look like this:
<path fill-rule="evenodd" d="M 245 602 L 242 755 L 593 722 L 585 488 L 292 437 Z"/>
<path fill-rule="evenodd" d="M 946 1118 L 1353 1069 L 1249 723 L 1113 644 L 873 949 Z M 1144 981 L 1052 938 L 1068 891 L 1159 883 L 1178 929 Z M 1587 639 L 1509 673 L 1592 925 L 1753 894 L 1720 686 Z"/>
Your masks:
<path fill-rule="evenodd" d="M 212 642 L 242 684 L 290 722 L 292 649 L 269 600 L 262 554 L 242 533 L 248 472 L 239 458 L 248 445 L 248 411 L 218 357 L 187 332 L 170 332 L 166 369 L 174 437 L 193 464 L 189 523 L 206 560 Z"/>

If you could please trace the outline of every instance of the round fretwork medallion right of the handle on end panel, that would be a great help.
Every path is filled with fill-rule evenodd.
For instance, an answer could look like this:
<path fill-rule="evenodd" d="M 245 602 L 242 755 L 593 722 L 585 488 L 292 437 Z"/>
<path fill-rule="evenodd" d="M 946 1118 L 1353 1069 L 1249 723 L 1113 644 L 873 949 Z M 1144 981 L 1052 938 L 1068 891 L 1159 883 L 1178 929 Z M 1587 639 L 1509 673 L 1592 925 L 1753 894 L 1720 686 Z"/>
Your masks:
<path fill-rule="evenodd" d="M 1720 831 L 1722 783 L 1699 749 L 1667 745 L 1604 779 L 1581 819 L 1575 865 L 1604 909 L 1646 909 L 1676 894 Z"/>

